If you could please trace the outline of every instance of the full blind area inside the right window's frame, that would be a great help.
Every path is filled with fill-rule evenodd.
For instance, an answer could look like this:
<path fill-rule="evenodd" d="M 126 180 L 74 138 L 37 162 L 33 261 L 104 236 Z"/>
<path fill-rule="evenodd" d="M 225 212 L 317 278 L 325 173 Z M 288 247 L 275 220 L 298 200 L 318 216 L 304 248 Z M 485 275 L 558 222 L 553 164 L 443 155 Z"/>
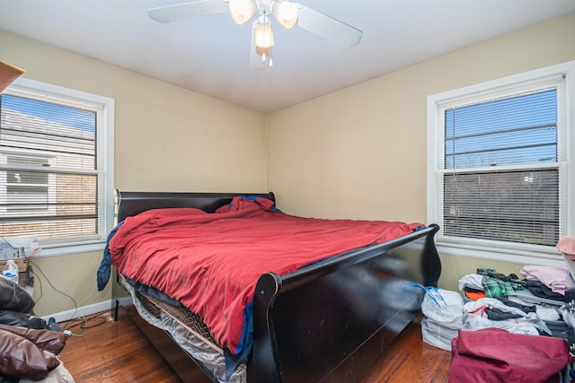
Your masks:
<path fill-rule="evenodd" d="M 558 88 L 444 110 L 445 236 L 554 246 L 561 234 Z"/>

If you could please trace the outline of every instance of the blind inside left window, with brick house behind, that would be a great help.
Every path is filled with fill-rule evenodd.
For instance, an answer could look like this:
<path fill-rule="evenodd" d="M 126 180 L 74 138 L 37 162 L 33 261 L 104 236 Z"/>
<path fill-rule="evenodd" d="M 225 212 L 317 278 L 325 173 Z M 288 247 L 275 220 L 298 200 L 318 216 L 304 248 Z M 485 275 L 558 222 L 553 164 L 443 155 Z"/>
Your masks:
<path fill-rule="evenodd" d="M 0 96 L 0 233 L 96 235 L 97 112 L 63 100 Z"/>

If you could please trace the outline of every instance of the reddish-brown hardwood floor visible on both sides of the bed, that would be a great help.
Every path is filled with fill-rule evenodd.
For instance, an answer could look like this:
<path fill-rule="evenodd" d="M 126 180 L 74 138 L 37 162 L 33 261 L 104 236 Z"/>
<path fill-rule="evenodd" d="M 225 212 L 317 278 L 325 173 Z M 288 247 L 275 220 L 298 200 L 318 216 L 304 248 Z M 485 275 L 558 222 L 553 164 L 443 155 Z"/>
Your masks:
<path fill-rule="evenodd" d="M 121 316 L 120 316 L 121 317 Z M 84 322 L 82 322 L 84 323 Z M 82 334 L 78 322 L 60 323 Z M 131 319 L 118 322 L 109 312 L 91 316 L 81 336 L 71 336 L 60 359 L 76 383 L 181 383 Z M 451 353 L 421 341 L 416 318 L 400 334 L 363 383 L 447 382 Z"/>

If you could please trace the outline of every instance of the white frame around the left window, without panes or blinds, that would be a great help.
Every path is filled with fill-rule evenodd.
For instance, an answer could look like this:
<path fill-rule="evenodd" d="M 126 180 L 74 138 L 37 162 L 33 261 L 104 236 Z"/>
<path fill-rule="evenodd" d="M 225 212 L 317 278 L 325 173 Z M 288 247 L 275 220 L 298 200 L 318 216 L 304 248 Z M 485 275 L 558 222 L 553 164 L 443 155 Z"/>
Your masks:
<path fill-rule="evenodd" d="M 115 100 L 49 83 L 41 83 L 26 78 L 19 78 L 4 90 L 5 94 L 21 96 L 30 99 L 42 100 L 49 97 L 51 100 L 61 100 L 63 105 L 86 106 L 97 109 L 97 170 L 99 173 L 98 195 L 101 196 L 98 211 L 102 214 L 99 219 L 98 235 L 90 236 L 76 242 L 62 242 L 57 239 L 39 240 L 42 250 L 34 257 L 61 256 L 91 251 L 101 251 L 108 233 L 114 223 L 114 113 Z"/>

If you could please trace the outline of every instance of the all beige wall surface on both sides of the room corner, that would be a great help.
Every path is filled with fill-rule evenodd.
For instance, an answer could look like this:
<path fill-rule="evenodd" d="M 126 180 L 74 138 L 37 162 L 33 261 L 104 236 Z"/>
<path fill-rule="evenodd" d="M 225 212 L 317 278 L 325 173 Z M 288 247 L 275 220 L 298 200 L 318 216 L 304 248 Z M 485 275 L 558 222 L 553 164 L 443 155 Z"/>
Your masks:
<path fill-rule="evenodd" d="M 4 33 L 0 59 L 25 68 L 27 78 L 116 100 L 120 189 L 270 189 L 288 213 L 426 222 L 428 95 L 574 60 L 573 41 L 575 15 L 268 116 Z M 101 257 L 35 262 L 58 290 L 88 305 L 111 298 L 106 290 L 84 300 Z M 478 266 L 506 274 L 520 267 L 453 256 L 442 262 L 440 284 L 451 290 Z M 39 276 L 40 315 L 74 307 Z"/>

